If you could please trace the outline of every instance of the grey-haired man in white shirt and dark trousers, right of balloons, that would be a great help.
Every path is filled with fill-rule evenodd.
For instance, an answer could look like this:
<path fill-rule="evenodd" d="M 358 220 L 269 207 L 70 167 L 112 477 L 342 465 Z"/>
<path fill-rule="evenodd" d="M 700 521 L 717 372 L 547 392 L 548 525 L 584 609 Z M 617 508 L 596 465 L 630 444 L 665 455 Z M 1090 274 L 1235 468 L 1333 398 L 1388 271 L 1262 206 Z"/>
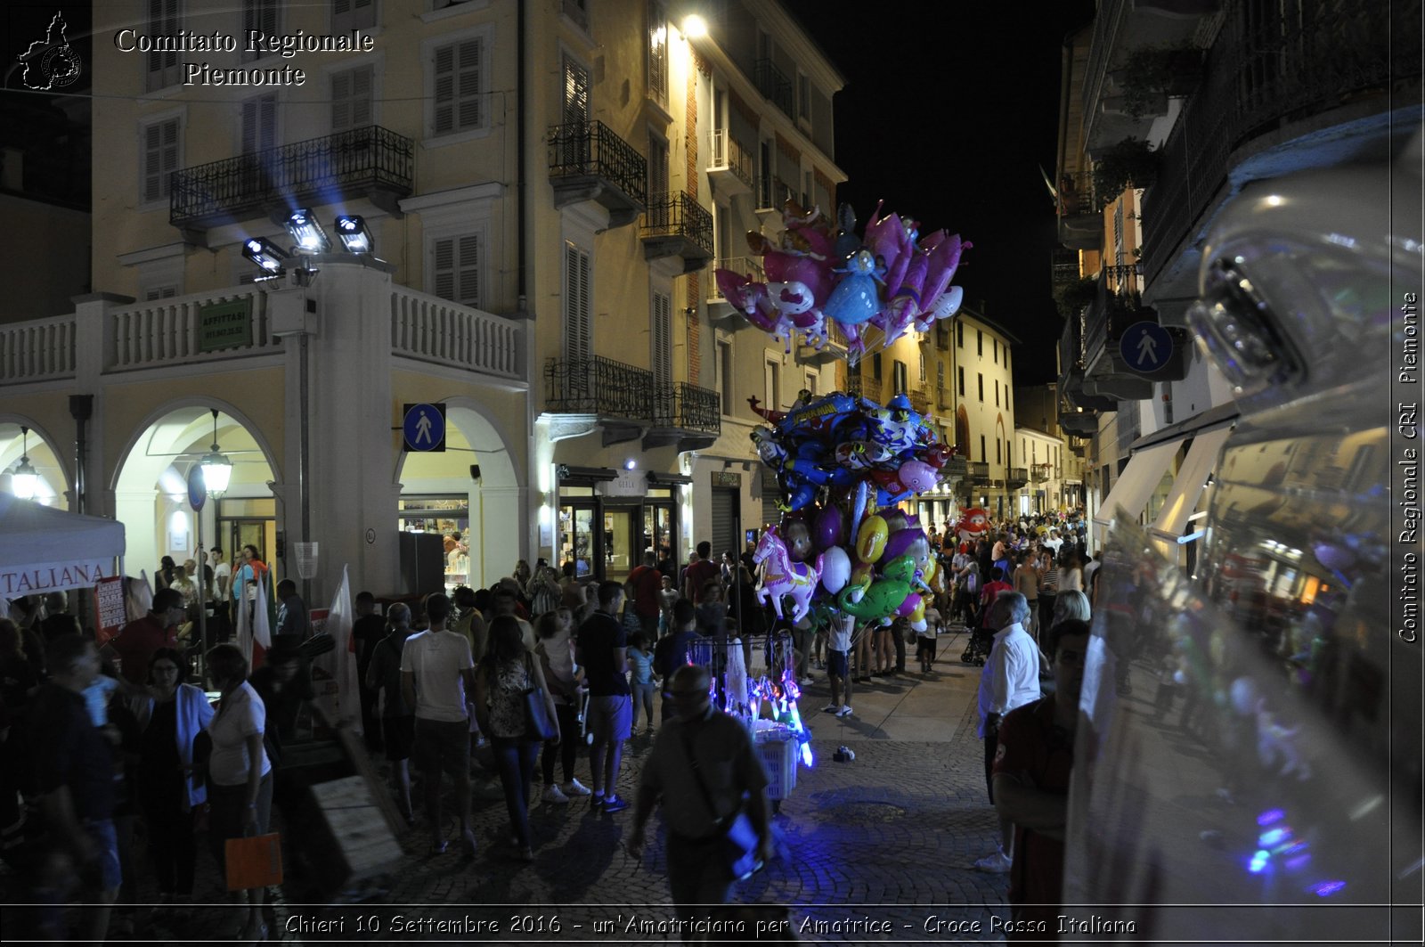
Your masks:
<path fill-rule="evenodd" d="M 995 629 L 995 646 L 980 672 L 979 736 L 985 740 L 985 784 L 995 802 L 993 767 L 999 750 L 999 722 L 1013 710 L 1039 700 L 1039 646 L 1025 630 L 1029 602 L 1019 592 L 1000 592 L 985 615 L 985 628 Z M 980 871 L 1003 874 L 1013 863 L 1015 823 L 1000 817 L 999 849 L 975 863 Z"/>

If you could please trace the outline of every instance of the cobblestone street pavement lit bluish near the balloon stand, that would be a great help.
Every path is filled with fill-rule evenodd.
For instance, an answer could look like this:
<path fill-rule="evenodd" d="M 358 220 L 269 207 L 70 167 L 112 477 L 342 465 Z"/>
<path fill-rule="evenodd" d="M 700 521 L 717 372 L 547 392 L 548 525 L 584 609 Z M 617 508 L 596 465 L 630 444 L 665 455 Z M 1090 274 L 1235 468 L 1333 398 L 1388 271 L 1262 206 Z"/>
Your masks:
<path fill-rule="evenodd" d="M 942 643 L 931 675 L 858 685 L 855 713 L 845 720 L 819 712 L 829 692 L 824 675 L 814 672 L 802 706 L 815 766 L 799 767 L 797 787 L 775 817 L 781 857 L 737 890 L 740 901 L 782 908 L 751 911 L 750 938 L 757 920 L 787 921 L 804 941 L 1000 938 L 993 924 L 1007 917 L 1006 879 L 972 867 L 993 849 L 996 821 L 975 736 L 979 669 L 959 663 L 962 647 L 962 639 Z M 842 744 L 855 760 L 832 760 Z M 620 794 L 633 799 L 650 746 L 647 734 L 630 742 Z M 587 759 L 577 772 L 587 782 Z M 539 790 L 536 784 L 536 799 Z M 342 900 L 349 903 L 318 907 L 279 899 L 271 911 L 272 936 L 286 943 L 678 941 L 678 933 L 667 930 L 673 913 L 661 833 L 638 863 L 621 849 L 631 821 L 631 809 L 601 814 L 587 800 L 536 802 L 534 861 L 510 860 L 502 854 L 509 827 L 499 780 L 480 777 L 475 859 L 460 856 L 456 844 L 429 854 L 429 829 L 420 824 L 403 833 L 406 856 L 390 874 L 368 890 L 348 891 Z M 453 820 L 447 829 L 453 836 Z M 231 936 L 237 920 L 217 904 L 221 894 L 204 849 L 198 891 L 209 904 L 185 914 L 135 911 L 115 933 L 133 921 L 134 937 L 144 940 L 211 943 Z"/>

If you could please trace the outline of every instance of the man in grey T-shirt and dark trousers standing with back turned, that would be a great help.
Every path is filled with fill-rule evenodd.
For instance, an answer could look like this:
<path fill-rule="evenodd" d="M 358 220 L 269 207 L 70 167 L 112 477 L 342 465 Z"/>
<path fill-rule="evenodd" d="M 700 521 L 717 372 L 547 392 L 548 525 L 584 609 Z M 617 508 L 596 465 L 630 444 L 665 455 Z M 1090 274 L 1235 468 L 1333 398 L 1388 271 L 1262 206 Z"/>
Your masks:
<path fill-rule="evenodd" d="M 446 850 L 440 833 L 440 772 L 455 780 L 465 854 L 475 857 L 470 830 L 470 703 L 475 700 L 475 660 L 470 642 L 446 629 L 450 599 L 426 596 L 430 629 L 412 635 L 400 649 L 400 695 L 416 709 L 415 760 L 422 773 L 432 851 Z"/>

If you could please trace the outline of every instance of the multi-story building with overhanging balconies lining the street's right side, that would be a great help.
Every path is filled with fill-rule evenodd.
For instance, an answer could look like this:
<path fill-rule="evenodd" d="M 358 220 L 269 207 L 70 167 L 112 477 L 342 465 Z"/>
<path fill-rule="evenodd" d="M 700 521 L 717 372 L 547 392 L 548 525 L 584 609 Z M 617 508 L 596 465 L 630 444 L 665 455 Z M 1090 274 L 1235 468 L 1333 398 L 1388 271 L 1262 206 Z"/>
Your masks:
<path fill-rule="evenodd" d="M 1231 385 L 1188 344 L 1201 241 L 1251 181 L 1404 145 L 1419 23 L 1419 4 L 1112 0 L 1066 43 L 1059 419 L 1087 454 L 1099 529 L 1121 503 L 1187 556 L 1173 541 L 1235 419 Z M 1144 347 L 1141 322 L 1170 351 Z"/>

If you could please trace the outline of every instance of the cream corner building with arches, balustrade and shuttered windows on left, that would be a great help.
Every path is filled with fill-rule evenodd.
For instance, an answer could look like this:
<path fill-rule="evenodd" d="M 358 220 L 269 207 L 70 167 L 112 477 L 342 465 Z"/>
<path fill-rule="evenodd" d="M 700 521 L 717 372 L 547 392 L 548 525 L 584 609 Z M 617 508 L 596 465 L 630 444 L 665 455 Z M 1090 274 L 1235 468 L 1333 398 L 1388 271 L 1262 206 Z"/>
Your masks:
<path fill-rule="evenodd" d="M 342 565 L 418 590 L 735 545 L 771 361 L 710 321 L 708 267 L 785 197 L 831 207 L 842 80 L 777 3 L 705 13 L 694 36 L 657 0 L 108 4 L 94 292 L 0 327 L 0 458 L 27 426 L 54 493 L 125 523 L 130 572 L 201 522 L 268 558 L 318 542 L 316 596 Z M 254 282 L 245 241 L 284 255 L 304 208 L 326 242 Z M 807 355 L 777 352 L 764 402 L 835 384 Z M 232 479 L 195 516 L 209 451 Z"/>

